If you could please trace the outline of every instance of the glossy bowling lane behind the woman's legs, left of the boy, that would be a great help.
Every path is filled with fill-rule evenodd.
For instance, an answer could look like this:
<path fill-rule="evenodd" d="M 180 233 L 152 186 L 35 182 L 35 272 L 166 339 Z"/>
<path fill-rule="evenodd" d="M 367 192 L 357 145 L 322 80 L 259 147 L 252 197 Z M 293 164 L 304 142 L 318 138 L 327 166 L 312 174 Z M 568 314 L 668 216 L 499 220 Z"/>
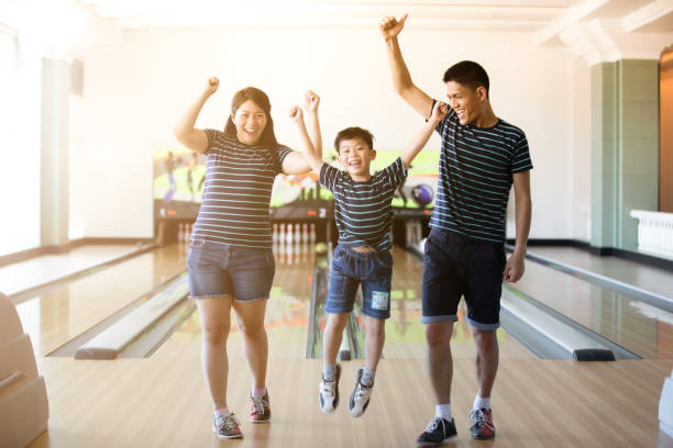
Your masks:
<path fill-rule="evenodd" d="M 315 245 L 275 246 L 274 255 L 276 275 L 264 322 L 268 335 L 268 357 L 304 359 L 311 307 Z M 199 313 L 195 312 L 152 355 L 152 358 L 199 358 L 200 344 L 201 323 Z M 230 360 L 244 359 L 241 334 L 233 313 L 227 351 Z"/>

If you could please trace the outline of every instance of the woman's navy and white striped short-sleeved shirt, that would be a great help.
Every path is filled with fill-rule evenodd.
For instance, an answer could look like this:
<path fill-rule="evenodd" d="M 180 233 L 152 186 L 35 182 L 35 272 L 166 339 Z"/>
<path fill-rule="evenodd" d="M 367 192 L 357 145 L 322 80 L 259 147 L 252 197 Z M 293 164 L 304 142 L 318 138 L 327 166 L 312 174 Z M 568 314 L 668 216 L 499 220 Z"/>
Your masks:
<path fill-rule="evenodd" d="M 272 188 L 291 149 L 250 146 L 221 131 L 205 132 L 206 187 L 192 237 L 232 246 L 272 247 Z"/>

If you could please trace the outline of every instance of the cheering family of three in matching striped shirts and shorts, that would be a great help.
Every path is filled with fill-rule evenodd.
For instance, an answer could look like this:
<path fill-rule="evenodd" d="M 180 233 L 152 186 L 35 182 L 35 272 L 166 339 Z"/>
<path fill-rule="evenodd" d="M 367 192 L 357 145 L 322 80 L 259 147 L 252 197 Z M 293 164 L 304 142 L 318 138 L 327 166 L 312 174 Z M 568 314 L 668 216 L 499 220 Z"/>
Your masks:
<path fill-rule="evenodd" d="M 339 244 L 324 305 L 329 318 L 318 401 L 327 414 L 340 403 L 336 354 L 361 285 L 366 359 L 357 369 L 347 408 L 353 417 L 366 411 L 384 347 L 385 320 L 390 315 L 390 202 L 433 131 L 441 136 L 441 152 L 431 231 L 424 246 L 421 322 L 426 325 L 435 415 L 416 441 L 421 446 L 440 445 L 457 434 L 451 410 L 450 341 L 461 298 L 465 299 L 466 320 L 476 345 L 477 392 L 468 414 L 470 432 L 476 439 L 495 437 L 490 394 L 498 367 L 496 329 L 501 282 L 515 282 L 523 275 L 530 228 L 532 165 L 528 143 L 520 128 L 494 113 L 488 76 L 477 63 L 464 60 L 444 72 L 445 101 L 432 99 L 412 82 L 398 43 L 406 20 L 406 15 L 399 20 L 385 18 L 379 30 L 395 91 L 424 123 L 400 156 L 374 175 L 374 137 L 362 127 L 336 134 L 340 169 L 322 160 L 320 99 L 312 91 L 306 94 L 306 111 L 299 107 L 289 111 L 299 135 L 298 152 L 276 141 L 268 97 L 252 87 L 234 94 L 224 131 L 196 128 L 198 114 L 218 90 L 217 78 L 208 80 L 175 126 L 177 139 L 205 154 L 207 160 L 203 200 L 187 266 L 190 296 L 196 299 L 201 318 L 201 363 L 218 437 L 242 437 L 241 423 L 227 403 L 227 338 L 232 309 L 252 374 L 250 421 L 271 421 L 264 314 L 275 273 L 268 206 L 274 178 L 280 172 L 313 170 L 320 183 L 334 194 Z M 505 222 L 512 186 L 516 245 L 507 258 Z"/>

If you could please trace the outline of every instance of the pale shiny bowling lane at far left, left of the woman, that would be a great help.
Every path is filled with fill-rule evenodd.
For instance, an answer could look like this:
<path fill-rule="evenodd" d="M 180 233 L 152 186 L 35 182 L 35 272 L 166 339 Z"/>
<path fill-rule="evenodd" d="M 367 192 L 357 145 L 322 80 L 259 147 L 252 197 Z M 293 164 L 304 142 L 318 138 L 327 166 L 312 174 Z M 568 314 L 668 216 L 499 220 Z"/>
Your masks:
<path fill-rule="evenodd" d="M 36 356 L 44 356 L 186 269 L 181 244 L 112 265 L 16 305 Z"/>

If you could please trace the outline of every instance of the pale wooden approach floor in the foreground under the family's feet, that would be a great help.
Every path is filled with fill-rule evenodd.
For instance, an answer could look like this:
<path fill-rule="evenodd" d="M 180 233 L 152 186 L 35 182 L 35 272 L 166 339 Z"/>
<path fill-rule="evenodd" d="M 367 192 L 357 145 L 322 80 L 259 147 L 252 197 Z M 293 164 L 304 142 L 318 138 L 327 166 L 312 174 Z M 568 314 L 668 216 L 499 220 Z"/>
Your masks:
<path fill-rule="evenodd" d="M 197 362 L 174 359 L 38 360 L 49 396 L 49 429 L 31 447 L 411 447 L 434 413 L 422 360 L 384 359 L 367 412 L 319 411 L 320 360 L 272 359 L 273 422 L 247 422 L 247 369 L 231 369 L 229 405 L 242 440 L 214 438 L 211 404 Z M 356 362 L 343 363 L 347 397 Z M 493 394 L 495 441 L 472 440 L 466 414 L 475 393 L 474 363 L 456 360 L 452 447 L 670 447 L 657 418 L 673 360 L 507 359 Z"/>

